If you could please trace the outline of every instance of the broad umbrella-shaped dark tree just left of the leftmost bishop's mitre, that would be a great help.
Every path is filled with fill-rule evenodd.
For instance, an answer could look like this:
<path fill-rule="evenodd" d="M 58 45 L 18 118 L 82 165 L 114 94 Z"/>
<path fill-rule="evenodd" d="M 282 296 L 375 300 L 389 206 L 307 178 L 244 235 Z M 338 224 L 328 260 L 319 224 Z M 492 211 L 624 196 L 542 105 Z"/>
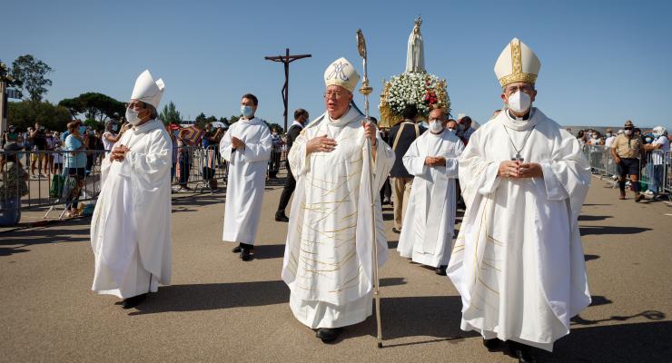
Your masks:
<path fill-rule="evenodd" d="M 104 123 L 108 119 L 120 120 L 126 111 L 124 103 L 103 93 L 82 93 L 74 98 L 66 98 L 58 103 L 76 117 L 84 113 L 87 120 Z"/>

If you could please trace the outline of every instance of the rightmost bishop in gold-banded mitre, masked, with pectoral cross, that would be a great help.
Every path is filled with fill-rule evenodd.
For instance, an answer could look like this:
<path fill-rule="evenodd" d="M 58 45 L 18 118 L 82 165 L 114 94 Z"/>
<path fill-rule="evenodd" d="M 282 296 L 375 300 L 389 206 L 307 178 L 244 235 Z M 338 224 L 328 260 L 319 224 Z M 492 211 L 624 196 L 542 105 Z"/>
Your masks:
<path fill-rule="evenodd" d="M 467 204 L 447 273 L 462 297 L 461 329 L 521 362 L 552 351 L 590 304 L 578 214 L 590 166 L 578 141 L 532 107 L 541 64 L 513 39 L 495 74 L 505 108 L 460 157 Z"/>

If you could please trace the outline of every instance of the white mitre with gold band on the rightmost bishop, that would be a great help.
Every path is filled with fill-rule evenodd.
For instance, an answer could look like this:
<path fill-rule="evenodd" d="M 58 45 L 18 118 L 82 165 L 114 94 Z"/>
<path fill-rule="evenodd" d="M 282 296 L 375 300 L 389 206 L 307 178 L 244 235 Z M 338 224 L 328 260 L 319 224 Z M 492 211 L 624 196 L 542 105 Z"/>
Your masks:
<path fill-rule="evenodd" d="M 539 69 L 541 62 L 537 54 L 518 38 L 513 38 L 507 44 L 495 64 L 495 74 L 502 87 L 515 82 L 534 84 L 537 82 Z"/>

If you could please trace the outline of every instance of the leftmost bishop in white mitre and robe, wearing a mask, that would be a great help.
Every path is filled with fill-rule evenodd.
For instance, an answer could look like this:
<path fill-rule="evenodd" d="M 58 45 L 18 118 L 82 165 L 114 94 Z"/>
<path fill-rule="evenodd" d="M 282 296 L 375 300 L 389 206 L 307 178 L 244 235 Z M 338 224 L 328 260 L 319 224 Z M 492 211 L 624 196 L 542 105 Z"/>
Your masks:
<path fill-rule="evenodd" d="M 135 81 L 124 132 L 101 165 L 102 188 L 91 220 L 92 289 L 124 299 L 130 309 L 171 282 L 172 142 L 156 109 L 161 79 Z"/>

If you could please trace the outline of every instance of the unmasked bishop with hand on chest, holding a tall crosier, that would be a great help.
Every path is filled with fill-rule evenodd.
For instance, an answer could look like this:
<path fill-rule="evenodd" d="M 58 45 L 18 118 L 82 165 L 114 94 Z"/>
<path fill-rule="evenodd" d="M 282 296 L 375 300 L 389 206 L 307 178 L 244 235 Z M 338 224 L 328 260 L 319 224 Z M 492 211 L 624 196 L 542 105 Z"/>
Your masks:
<path fill-rule="evenodd" d="M 387 260 L 379 191 L 394 152 L 351 105 L 359 79 L 345 58 L 327 67 L 327 110 L 303 129 L 289 153 L 297 185 L 282 280 L 291 290 L 294 317 L 317 329 L 316 336 L 325 343 L 338 338 L 342 327 L 371 315 L 375 244 L 379 265 Z M 375 201 L 371 201 L 371 172 Z M 376 241 L 371 239 L 372 228 L 378 231 Z"/>

